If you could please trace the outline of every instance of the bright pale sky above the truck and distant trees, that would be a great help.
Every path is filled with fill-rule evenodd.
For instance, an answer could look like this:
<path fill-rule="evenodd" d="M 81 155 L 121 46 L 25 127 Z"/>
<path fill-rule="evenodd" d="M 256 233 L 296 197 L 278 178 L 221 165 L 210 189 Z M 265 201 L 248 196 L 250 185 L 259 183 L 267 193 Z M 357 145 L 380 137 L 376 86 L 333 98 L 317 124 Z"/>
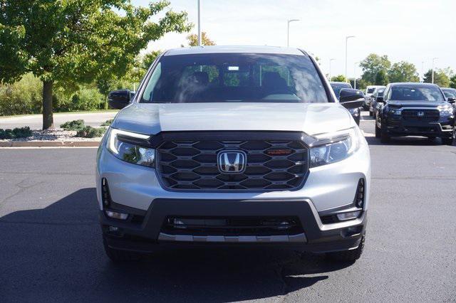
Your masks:
<path fill-rule="evenodd" d="M 187 11 L 197 33 L 197 0 L 171 7 Z M 331 74 L 344 73 L 346 36 L 356 36 L 348 41 L 349 77 L 369 53 L 408 60 L 419 73 L 437 57 L 436 68 L 456 72 L 456 0 L 202 0 L 202 31 L 217 45 L 286 46 L 286 21 L 294 18 L 301 21 L 290 24 L 290 46 L 321 58 L 324 73 L 330 58 Z M 170 33 L 149 48 L 179 47 L 186 36 Z"/>

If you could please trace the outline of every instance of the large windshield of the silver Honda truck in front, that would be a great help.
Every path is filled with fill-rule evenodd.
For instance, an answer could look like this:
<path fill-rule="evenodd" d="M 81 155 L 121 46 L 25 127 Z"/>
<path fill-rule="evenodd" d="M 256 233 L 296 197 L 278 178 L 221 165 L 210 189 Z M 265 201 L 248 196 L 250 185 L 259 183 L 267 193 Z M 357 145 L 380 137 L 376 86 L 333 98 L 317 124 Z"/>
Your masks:
<path fill-rule="evenodd" d="M 328 102 L 307 55 L 163 56 L 140 102 Z"/>

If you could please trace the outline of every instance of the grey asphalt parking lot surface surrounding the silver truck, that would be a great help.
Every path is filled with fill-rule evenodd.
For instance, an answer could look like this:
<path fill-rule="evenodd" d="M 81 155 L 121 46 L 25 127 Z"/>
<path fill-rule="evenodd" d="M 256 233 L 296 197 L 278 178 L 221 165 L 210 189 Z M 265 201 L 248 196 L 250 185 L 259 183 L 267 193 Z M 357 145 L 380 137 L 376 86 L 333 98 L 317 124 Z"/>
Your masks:
<path fill-rule="evenodd" d="M 367 139 L 371 204 L 355 264 L 233 248 L 113 265 L 98 227 L 96 149 L 0 149 L 0 301 L 454 301 L 456 147 Z"/>

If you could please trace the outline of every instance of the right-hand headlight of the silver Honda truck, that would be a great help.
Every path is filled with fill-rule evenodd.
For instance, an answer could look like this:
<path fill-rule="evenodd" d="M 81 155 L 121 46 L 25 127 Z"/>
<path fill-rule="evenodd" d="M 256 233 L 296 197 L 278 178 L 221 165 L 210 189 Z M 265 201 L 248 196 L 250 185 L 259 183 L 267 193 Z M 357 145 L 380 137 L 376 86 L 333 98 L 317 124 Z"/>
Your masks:
<path fill-rule="evenodd" d="M 311 148 L 310 166 L 330 164 L 351 156 L 360 146 L 361 134 L 359 132 L 358 128 L 351 128 L 336 134 L 318 136 L 318 141 L 329 141 L 330 143 Z"/>

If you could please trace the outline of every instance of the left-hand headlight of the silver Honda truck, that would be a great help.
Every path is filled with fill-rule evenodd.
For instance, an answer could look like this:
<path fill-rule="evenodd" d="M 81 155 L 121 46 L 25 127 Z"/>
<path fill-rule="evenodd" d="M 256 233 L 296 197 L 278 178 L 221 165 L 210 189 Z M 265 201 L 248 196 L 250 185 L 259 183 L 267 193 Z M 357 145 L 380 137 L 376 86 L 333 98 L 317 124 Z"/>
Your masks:
<path fill-rule="evenodd" d="M 127 132 L 125 130 L 110 128 L 106 147 L 118 159 L 128 163 L 153 167 L 155 165 L 155 149 L 145 147 L 147 134 Z M 143 144 L 141 144 L 144 142 Z"/>

